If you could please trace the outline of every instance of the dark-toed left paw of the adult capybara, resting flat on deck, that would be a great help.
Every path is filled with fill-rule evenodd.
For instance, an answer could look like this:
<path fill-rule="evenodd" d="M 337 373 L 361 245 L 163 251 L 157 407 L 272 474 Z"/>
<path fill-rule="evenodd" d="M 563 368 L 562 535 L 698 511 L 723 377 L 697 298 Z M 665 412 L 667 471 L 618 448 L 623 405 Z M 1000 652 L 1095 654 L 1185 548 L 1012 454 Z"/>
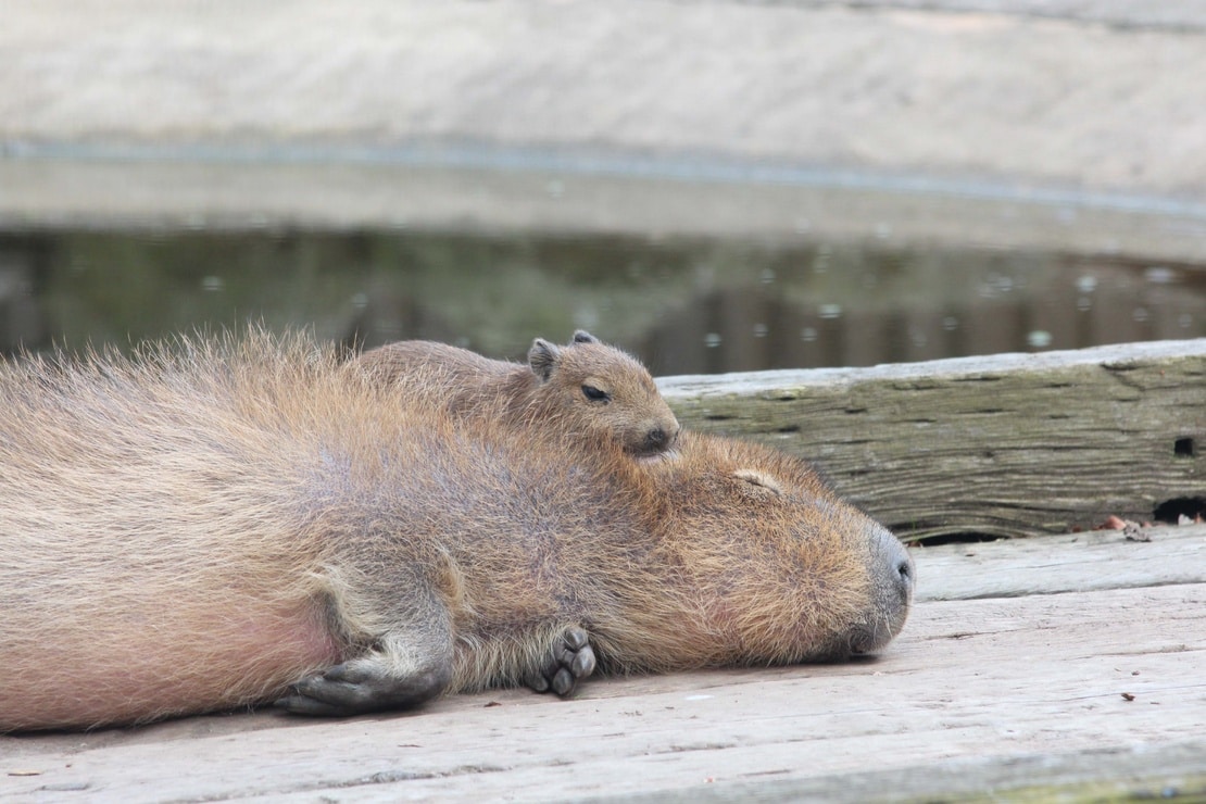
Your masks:
<path fill-rule="evenodd" d="M 357 659 L 298 681 L 289 688 L 289 694 L 275 705 L 298 715 L 320 717 L 404 709 L 434 698 L 447 685 L 449 677 L 446 667 L 398 676 L 387 673 L 382 663 Z"/>

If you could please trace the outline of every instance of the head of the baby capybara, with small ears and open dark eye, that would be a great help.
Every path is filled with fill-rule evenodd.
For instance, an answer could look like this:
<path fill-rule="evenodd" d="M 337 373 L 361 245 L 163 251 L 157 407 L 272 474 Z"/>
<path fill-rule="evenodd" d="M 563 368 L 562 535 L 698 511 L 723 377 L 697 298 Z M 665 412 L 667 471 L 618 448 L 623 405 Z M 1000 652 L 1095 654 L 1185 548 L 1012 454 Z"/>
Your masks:
<path fill-rule="evenodd" d="M 610 433 L 637 456 L 674 445 L 679 423 L 636 358 L 579 329 L 568 346 L 532 341 L 528 366 L 540 383 L 539 409 L 591 433 Z"/>

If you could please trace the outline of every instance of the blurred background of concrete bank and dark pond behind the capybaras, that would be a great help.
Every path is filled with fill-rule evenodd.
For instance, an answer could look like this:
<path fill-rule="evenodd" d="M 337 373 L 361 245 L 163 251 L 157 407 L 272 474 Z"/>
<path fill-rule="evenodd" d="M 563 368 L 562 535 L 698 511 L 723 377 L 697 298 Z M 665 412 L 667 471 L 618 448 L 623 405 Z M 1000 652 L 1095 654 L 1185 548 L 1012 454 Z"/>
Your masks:
<path fill-rule="evenodd" d="M 1206 336 L 1206 4 L 41 0 L 0 352 L 312 327 L 654 374 Z"/>

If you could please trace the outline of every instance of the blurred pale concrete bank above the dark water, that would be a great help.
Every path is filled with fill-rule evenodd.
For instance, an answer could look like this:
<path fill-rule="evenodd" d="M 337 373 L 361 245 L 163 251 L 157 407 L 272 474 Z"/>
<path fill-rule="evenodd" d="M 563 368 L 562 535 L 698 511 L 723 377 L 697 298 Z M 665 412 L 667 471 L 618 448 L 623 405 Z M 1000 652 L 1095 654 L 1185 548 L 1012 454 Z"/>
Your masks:
<path fill-rule="evenodd" d="M 0 227 L 1206 257 L 1206 13 L 911 5 L 21 4 Z"/>

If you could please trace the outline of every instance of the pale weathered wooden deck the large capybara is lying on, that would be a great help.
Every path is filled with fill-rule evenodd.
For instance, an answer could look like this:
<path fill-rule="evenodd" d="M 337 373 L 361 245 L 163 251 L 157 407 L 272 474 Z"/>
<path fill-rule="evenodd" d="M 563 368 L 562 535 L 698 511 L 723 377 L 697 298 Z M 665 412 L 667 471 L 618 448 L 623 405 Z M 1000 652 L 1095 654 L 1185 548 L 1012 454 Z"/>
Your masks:
<path fill-rule="evenodd" d="M 0 738 L 0 799 L 1206 796 L 1206 527 L 914 548 L 877 659 Z"/>

